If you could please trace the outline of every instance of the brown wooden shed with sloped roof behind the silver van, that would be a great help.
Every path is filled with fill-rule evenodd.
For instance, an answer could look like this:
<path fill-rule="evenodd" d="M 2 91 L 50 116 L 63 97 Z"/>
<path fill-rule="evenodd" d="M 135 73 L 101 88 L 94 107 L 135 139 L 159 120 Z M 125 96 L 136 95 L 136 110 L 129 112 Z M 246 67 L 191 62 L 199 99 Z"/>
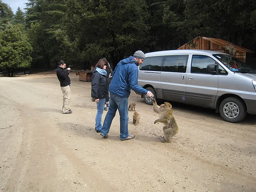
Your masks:
<path fill-rule="evenodd" d="M 211 37 L 196 37 L 178 49 L 201 49 L 220 51 L 234 55 L 235 57 L 241 59 L 244 62 L 246 59 L 246 53 L 254 53 L 249 49 L 245 49 L 238 45 L 232 44 L 229 41 Z"/>

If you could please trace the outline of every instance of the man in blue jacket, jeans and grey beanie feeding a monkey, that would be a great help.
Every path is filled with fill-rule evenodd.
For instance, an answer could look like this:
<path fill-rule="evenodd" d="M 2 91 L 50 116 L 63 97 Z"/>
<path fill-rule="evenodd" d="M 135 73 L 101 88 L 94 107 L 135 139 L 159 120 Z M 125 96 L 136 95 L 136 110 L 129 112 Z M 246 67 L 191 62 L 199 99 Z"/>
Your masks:
<path fill-rule="evenodd" d="M 133 56 L 123 59 L 117 64 L 109 88 L 109 111 L 100 131 L 100 135 L 104 138 L 109 136 L 110 126 L 117 109 L 120 114 L 120 140 L 124 141 L 135 137 L 128 131 L 128 97 L 131 94 L 131 89 L 137 93 L 146 94 L 148 97 L 154 97 L 150 91 L 138 86 L 138 66 L 143 63 L 144 59 L 145 54 L 139 50 Z"/>

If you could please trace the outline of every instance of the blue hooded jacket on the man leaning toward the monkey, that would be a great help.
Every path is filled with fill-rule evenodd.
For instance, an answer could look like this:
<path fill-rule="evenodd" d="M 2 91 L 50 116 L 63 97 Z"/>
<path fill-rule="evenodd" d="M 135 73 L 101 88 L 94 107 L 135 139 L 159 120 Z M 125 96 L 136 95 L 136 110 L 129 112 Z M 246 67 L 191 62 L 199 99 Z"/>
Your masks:
<path fill-rule="evenodd" d="M 133 56 L 119 61 L 113 72 L 109 91 L 119 97 L 129 97 L 131 89 L 140 94 L 147 93 L 147 90 L 138 86 L 138 67 Z"/>

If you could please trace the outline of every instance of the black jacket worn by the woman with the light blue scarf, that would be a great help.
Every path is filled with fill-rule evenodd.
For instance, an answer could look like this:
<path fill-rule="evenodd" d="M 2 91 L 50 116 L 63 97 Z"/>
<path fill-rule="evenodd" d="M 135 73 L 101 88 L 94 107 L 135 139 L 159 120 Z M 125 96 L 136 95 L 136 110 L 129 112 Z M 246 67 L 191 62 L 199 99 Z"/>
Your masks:
<path fill-rule="evenodd" d="M 106 80 L 106 76 L 101 75 L 98 71 L 93 70 L 92 77 L 92 98 L 102 99 L 106 97 L 108 93 L 109 84 Z"/>

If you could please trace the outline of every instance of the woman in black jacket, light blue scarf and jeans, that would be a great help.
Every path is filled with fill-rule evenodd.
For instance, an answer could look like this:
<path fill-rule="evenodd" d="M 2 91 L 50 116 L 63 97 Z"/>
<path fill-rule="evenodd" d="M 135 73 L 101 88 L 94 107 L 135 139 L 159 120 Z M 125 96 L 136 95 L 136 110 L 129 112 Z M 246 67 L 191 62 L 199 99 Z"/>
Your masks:
<path fill-rule="evenodd" d="M 95 69 L 92 71 L 92 98 L 94 98 L 97 103 L 97 114 L 95 118 L 95 130 L 97 133 L 100 132 L 102 127 L 101 117 L 103 114 L 105 97 L 109 90 L 108 81 L 106 80 L 106 65 L 108 65 L 108 63 L 99 59 Z"/>

